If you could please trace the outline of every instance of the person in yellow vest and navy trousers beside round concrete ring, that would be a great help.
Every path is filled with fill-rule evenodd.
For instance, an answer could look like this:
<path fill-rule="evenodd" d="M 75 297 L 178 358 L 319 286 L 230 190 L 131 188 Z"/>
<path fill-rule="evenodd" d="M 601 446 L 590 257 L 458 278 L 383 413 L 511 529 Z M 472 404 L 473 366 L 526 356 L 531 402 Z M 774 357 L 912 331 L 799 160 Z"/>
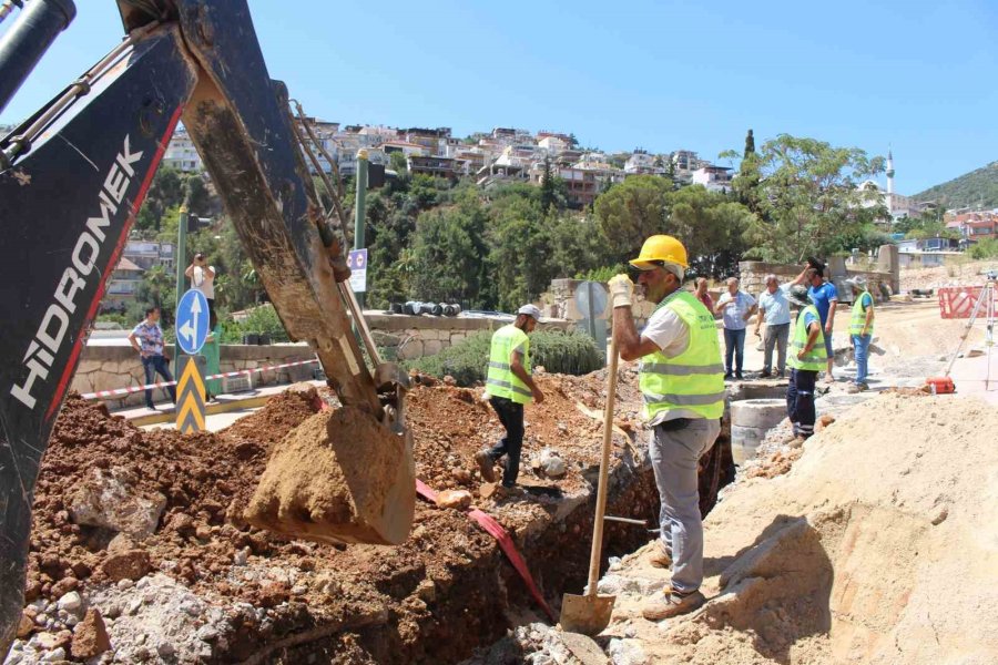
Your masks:
<path fill-rule="evenodd" d="M 822 317 L 811 301 L 807 287 L 800 284 L 792 286 L 787 299 L 800 310 L 786 359 L 791 368 L 786 386 L 786 415 L 794 424 L 794 434 L 806 439 L 814 433 L 814 386 L 817 374 L 825 366 L 825 340 Z"/>

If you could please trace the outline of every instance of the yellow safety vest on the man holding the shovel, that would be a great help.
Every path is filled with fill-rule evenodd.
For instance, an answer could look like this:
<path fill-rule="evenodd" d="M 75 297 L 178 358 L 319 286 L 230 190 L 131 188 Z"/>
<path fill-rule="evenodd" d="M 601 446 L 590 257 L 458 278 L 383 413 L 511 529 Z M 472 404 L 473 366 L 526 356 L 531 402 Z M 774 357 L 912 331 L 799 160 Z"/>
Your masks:
<path fill-rule="evenodd" d="M 714 317 L 690 291 L 678 290 L 659 304 L 686 325 L 690 344 L 679 356 L 669 358 L 661 350 L 642 358 L 638 386 L 644 397 L 644 416 L 653 419 L 660 411 L 682 409 L 700 418 L 721 418 L 724 413 L 724 366 Z"/>

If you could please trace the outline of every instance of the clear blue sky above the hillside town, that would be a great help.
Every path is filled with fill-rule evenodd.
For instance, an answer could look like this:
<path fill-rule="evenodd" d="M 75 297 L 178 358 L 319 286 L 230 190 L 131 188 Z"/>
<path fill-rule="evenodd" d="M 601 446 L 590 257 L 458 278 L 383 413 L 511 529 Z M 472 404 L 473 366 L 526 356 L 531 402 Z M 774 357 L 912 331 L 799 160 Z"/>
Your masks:
<path fill-rule="evenodd" d="M 120 34 L 78 18 L 0 114 L 14 123 Z M 271 76 L 344 123 L 573 132 L 607 151 L 715 158 L 807 135 L 894 151 L 913 194 L 998 160 L 998 3 L 251 0 Z M 760 7 L 764 6 L 764 7 Z M 0 32 L 12 23 L 0 24 Z"/>

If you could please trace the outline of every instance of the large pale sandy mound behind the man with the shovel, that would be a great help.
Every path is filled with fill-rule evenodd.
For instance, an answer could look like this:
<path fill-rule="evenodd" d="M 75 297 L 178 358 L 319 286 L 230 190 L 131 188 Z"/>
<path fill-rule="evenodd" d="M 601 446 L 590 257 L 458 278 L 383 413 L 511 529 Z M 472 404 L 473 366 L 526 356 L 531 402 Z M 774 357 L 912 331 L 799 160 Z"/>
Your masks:
<path fill-rule="evenodd" d="M 608 633 L 648 662 L 998 662 L 996 431 L 966 398 L 856 407 L 711 513 L 701 611 L 641 618 L 668 577 L 634 555 L 601 583 L 621 591 Z"/>

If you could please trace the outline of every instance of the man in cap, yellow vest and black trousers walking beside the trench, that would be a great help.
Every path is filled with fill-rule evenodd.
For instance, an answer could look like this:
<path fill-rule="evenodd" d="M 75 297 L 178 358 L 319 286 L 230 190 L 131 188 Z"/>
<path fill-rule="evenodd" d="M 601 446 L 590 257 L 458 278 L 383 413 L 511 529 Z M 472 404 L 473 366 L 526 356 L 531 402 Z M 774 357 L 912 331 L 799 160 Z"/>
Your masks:
<path fill-rule="evenodd" d="M 517 484 L 520 473 L 520 449 L 523 446 L 523 405 L 536 400 L 544 401 L 544 393 L 530 376 L 530 338 L 540 309 L 523 305 L 517 311 L 517 319 L 492 334 L 489 354 L 489 371 L 486 392 L 489 403 L 496 410 L 499 422 L 506 428 L 506 436 L 491 449 L 482 449 L 475 456 L 481 477 L 487 482 L 496 482 L 495 463 L 506 456 L 502 472 L 502 490 L 507 493 Z"/>

